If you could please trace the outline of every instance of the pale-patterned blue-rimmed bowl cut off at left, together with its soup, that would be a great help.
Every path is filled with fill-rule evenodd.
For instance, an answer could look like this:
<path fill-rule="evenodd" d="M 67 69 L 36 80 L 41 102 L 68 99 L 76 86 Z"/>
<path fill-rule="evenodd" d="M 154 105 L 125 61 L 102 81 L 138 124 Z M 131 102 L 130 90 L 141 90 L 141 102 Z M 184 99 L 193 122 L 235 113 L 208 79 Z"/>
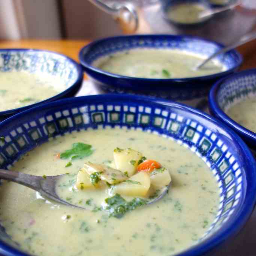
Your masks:
<path fill-rule="evenodd" d="M 81 67 L 69 57 L 36 49 L 0 49 L 0 118 L 63 97 L 82 83 Z"/>

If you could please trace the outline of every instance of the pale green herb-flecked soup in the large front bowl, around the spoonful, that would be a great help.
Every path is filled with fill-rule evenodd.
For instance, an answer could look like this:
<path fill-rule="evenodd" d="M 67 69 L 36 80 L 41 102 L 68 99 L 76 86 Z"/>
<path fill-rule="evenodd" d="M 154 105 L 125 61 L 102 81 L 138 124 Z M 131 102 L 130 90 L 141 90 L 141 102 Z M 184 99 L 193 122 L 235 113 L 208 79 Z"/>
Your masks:
<path fill-rule="evenodd" d="M 75 142 L 90 144 L 93 152 L 82 159 L 60 159 L 59 153 L 70 150 Z M 116 147 L 143 152 L 168 168 L 172 177 L 171 189 L 163 199 L 119 219 L 101 210 L 96 189 L 74 188 L 85 162 L 108 163 Z M 42 176 L 69 173 L 58 185 L 58 193 L 88 208 L 49 202 L 27 187 L 3 181 L 1 225 L 21 249 L 34 255 L 174 255 L 197 243 L 218 211 L 219 189 L 208 166 L 176 142 L 141 131 L 73 132 L 30 151 L 13 169 Z"/>

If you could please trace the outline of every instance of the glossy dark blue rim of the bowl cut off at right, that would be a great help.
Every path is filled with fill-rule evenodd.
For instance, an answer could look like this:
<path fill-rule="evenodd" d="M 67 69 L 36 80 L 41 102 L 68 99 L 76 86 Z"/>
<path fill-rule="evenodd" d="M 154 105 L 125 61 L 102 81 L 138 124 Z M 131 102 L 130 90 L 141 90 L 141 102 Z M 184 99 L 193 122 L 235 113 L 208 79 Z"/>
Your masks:
<path fill-rule="evenodd" d="M 244 126 L 241 126 L 241 124 L 238 124 L 236 121 L 230 118 L 220 108 L 220 105 L 217 102 L 217 93 L 219 91 L 220 86 L 223 84 L 223 82 L 226 82 L 229 79 L 239 78 L 241 75 L 247 75 L 251 73 L 256 74 L 256 68 L 243 70 L 220 79 L 211 88 L 208 98 L 209 98 L 209 108 L 210 108 L 209 110 L 215 117 L 219 118 L 220 121 L 223 121 L 226 125 L 234 129 L 235 132 L 238 133 L 238 135 L 240 135 L 242 138 L 245 138 L 247 141 L 249 141 L 250 144 L 252 144 L 252 141 L 253 141 L 253 144 L 256 145 L 256 133 L 252 132 L 251 130 L 247 129 Z"/>

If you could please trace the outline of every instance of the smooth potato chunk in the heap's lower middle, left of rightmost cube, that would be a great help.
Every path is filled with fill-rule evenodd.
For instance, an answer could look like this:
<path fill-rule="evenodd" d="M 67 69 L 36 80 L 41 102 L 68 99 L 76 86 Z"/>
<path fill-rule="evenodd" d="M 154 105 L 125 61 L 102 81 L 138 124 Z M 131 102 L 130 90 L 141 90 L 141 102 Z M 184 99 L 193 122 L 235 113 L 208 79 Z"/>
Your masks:
<path fill-rule="evenodd" d="M 139 172 L 129 180 L 123 181 L 114 187 L 112 192 L 127 196 L 145 196 L 150 188 L 150 177 L 146 172 Z"/>

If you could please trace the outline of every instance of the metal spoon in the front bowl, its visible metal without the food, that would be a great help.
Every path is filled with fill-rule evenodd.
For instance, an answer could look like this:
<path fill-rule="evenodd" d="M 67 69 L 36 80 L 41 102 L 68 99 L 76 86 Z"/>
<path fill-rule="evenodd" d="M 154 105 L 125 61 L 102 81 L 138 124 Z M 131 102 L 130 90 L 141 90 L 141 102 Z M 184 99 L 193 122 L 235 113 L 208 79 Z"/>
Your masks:
<path fill-rule="evenodd" d="M 78 205 L 70 204 L 69 202 L 62 200 L 57 195 L 55 190 L 57 181 L 60 178 L 62 178 L 64 175 L 66 174 L 42 177 L 42 176 L 25 174 L 22 172 L 13 172 L 13 171 L 0 169 L 0 179 L 13 181 L 21 185 L 24 185 L 26 187 L 29 187 L 30 189 L 38 191 L 42 197 L 47 197 L 55 202 L 72 206 L 72 207 L 86 209 L 84 207 L 79 207 Z M 165 196 L 166 193 L 168 193 L 170 185 L 171 185 L 171 182 L 168 184 L 168 186 L 164 187 L 161 190 L 161 193 L 156 198 L 148 201 L 147 204 L 152 204 L 160 200 L 161 198 L 163 198 L 163 196 Z"/>

